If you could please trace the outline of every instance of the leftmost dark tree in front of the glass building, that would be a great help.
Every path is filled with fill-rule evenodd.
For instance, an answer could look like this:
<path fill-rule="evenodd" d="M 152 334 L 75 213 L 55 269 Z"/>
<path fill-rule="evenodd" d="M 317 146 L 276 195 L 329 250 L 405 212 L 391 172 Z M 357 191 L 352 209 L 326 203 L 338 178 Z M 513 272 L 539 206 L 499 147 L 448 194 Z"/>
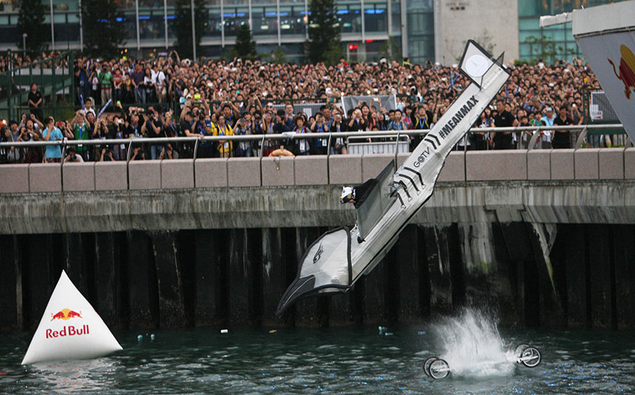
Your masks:
<path fill-rule="evenodd" d="M 44 3 L 42 0 L 22 0 L 18 11 L 18 48 L 22 47 L 22 35 L 27 34 L 26 49 L 37 51 L 42 49 L 44 42 L 48 41 L 50 32 L 44 25 Z"/>

